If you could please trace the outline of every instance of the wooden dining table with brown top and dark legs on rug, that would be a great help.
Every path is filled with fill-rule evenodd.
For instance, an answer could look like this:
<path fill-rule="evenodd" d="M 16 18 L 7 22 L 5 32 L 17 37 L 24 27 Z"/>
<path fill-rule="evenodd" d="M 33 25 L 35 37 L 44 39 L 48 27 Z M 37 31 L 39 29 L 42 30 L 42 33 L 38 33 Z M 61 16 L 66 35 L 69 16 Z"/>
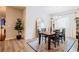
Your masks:
<path fill-rule="evenodd" d="M 50 43 L 51 43 L 51 39 L 50 37 L 53 36 L 55 34 L 55 32 L 40 32 L 39 33 L 39 45 L 41 43 L 41 36 L 44 35 L 45 39 L 46 37 L 48 37 L 48 50 L 50 50 Z"/>

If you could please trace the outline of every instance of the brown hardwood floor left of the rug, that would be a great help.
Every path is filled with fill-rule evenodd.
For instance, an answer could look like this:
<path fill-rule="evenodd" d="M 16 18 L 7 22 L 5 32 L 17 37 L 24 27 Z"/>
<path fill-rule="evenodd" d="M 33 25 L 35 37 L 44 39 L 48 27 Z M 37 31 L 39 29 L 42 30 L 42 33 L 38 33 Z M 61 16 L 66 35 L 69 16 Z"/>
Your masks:
<path fill-rule="evenodd" d="M 34 52 L 24 39 L 0 41 L 0 52 Z"/>

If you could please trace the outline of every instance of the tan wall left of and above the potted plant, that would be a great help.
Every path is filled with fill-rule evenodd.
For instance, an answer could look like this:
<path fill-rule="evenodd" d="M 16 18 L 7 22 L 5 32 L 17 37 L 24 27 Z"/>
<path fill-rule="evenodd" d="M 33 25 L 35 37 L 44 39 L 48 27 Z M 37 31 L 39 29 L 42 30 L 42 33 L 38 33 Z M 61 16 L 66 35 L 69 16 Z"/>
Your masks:
<path fill-rule="evenodd" d="M 23 12 L 19 9 L 6 7 L 6 39 L 14 39 L 17 35 L 14 26 L 17 18 L 22 18 Z"/>

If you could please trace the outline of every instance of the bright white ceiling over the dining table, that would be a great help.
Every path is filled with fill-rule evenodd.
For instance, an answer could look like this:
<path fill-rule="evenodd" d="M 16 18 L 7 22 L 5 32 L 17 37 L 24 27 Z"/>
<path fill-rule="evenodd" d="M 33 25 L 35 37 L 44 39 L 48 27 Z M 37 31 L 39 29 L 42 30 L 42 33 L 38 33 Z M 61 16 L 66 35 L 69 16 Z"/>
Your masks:
<path fill-rule="evenodd" d="M 48 14 L 55 14 L 55 13 L 65 12 L 73 9 L 78 9 L 79 6 L 36 6 L 36 8 L 41 9 L 41 11 Z"/>

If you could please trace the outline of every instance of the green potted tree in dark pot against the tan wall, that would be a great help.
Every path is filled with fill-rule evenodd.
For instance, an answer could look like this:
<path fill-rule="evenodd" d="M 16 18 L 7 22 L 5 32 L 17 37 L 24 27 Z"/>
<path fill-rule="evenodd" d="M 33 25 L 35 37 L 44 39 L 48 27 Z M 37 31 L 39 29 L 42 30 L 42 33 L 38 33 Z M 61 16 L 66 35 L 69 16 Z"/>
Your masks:
<path fill-rule="evenodd" d="M 17 39 L 21 39 L 22 36 L 22 30 L 23 30 L 23 25 L 22 25 L 22 21 L 20 18 L 17 19 L 16 21 L 16 25 L 15 25 L 15 30 L 18 32 L 18 35 L 16 36 Z"/>

